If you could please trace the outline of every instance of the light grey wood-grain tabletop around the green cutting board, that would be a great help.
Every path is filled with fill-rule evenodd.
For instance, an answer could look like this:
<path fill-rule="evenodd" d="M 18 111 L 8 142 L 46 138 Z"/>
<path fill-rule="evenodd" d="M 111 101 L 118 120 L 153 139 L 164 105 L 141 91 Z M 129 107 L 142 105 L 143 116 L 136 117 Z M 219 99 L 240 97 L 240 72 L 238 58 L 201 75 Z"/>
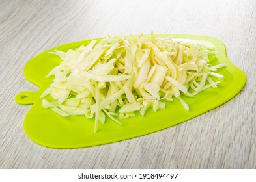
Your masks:
<path fill-rule="evenodd" d="M 38 89 L 23 75 L 29 59 L 68 42 L 151 31 L 219 38 L 246 86 L 188 122 L 113 144 L 51 149 L 25 135 L 31 105 L 14 96 Z M 255 65 L 255 0 L 0 0 L 0 168 L 256 168 Z"/>

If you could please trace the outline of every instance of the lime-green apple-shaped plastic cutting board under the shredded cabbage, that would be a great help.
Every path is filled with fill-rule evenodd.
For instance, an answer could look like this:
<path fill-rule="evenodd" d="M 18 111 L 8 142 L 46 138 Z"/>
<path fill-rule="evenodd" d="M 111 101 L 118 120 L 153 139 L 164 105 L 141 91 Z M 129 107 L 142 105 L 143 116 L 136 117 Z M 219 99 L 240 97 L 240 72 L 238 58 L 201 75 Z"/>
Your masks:
<path fill-rule="evenodd" d="M 233 98 L 246 83 L 246 75 L 234 64 L 229 62 L 223 43 L 208 36 L 195 36 L 184 34 L 158 34 L 158 37 L 176 37 L 186 42 L 199 42 L 208 49 L 215 49 L 216 57 L 212 64 L 226 63 L 226 68 L 221 68 L 218 73 L 224 75 L 224 79 L 218 88 L 208 88 L 194 98 L 182 96 L 190 106 L 190 110 L 184 109 L 178 99 L 173 102 L 165 101 L 166 109 L 160 109 L 156 113 L 149 109 L 142 118 L 136 113 L 134 118 L 121 120 L 123 126 L 107 119 L 104 124 L 99 123 L 97 133 L 94 133 L 94 118 L 87 119 L 84 116 L 62 117 L 50 109 L 42 107 L 40 95 L 52 83 L 53 77 L 44 77 L 50 70 L 57 66 L 61 59 L 57 55 L 48 52 L 54 49 L 68 51 L 82 44 L 89 44 L 91 40 L 72 42 L 53 47 L 33 59 L 29 60 L 24 68 L 25 77 L 40 86 L 36 92 L 21 92 L 16 95 L 15 101 L 20 104 L 33 104 L 24 120 L 25 133 L 38 144 L 50 148 L 82 148 L 96 146 L 147 135 L 162 129 L 166 129 L 178 123 L 190 120 L 214 109 L 229 99 Z"/>

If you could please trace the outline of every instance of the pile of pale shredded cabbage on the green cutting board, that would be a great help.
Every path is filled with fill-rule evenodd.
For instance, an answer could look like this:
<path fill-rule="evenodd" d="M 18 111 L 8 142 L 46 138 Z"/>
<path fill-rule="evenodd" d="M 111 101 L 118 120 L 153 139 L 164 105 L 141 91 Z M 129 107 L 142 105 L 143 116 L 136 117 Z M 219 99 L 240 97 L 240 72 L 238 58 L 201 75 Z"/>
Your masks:
<path fill-rule="evenodd" d="M 149 38 L 107 36 L 87 46 L 52 53 L 62 62 L 46 75 L 55 78 L 41 96 L 42 106 L 61 116 L 95 117 L 94 132 L 106 116 L 122 125 L 117 117 L 165 109 L 162 99 L 178 98 L 189 110 L 180 95 L 193 97 L 206 88 L 216 88 L 220 81 L 210 76 L 223 78 L 216 71 L 225 66 L 210 66 L 208 53 L 214 52 L 199 44 L 154 34 Z M 48 95 L 54 101 L 48 101 Z"/>

